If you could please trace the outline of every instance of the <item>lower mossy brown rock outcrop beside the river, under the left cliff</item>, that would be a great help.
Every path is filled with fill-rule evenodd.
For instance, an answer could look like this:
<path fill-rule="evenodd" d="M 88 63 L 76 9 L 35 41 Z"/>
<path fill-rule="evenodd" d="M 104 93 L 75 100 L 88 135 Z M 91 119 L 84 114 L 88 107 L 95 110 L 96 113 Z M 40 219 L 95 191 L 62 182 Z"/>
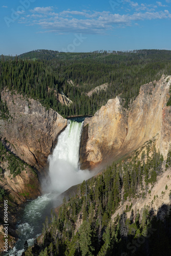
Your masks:
<path fill-rule="evenodd" d="M 9 246 L 12 248 L 18 236 L 15 232 L 16 214 L 20 204 L 26 199 L 35 199 L 40 195 L 40 184 L 35 173 L 29 166 L 19 175 L 13 177 L 10 170 L 6 169 L 4 175 L 1 175 L 0 187 L 6 191 L 5 200 L 8 201 L 8 236 Z M 4 251 L 4 199 L 0 203 L 0 252 Z"/>

